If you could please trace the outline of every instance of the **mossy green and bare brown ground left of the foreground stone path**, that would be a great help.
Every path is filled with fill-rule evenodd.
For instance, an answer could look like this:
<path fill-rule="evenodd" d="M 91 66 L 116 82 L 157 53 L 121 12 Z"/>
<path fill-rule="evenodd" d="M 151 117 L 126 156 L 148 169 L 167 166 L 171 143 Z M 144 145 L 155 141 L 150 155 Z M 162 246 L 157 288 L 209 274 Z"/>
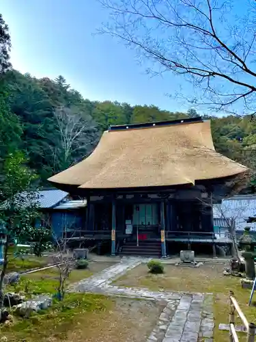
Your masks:
<path fill-rule="evenodd" d="M 29 319 L 14 317 L 12 326 L 0 328 L 0 341 L 146 341 L 162 308 L 151 301 L 69 293 L 63 305 L 47 312 Z"/>

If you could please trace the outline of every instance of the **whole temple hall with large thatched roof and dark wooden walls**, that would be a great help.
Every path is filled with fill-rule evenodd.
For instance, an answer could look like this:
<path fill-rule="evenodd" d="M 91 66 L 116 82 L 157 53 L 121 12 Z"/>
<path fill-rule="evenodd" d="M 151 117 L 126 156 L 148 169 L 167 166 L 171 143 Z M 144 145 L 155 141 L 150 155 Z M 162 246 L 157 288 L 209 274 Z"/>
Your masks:
<path fill-rule="evenodd" d="M 190 118 L 110 127 L 89 157 L 48 181 L 87 200 L 79 244 L 165 257 L 230 242 L 215 241 L 212 207 L 247 174 L 214 150 L 210 121 Z"/>

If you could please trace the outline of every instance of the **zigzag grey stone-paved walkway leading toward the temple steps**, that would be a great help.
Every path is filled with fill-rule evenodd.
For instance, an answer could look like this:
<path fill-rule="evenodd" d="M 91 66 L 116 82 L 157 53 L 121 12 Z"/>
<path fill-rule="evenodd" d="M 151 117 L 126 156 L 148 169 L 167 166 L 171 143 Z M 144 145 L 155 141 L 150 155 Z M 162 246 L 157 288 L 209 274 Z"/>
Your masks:
<path fill-rule="evenodd" d="M 212 342 L 214 329 L 212 295 L 149 291 L 141 288 L 111 285 L 113 280 L 148 260 L 141 258 L 122 259 L 120 263 L 72 285 L 69 291 L 164 301 L 165 308 L 147 342 L 197 342 L 200 340 Z"/>

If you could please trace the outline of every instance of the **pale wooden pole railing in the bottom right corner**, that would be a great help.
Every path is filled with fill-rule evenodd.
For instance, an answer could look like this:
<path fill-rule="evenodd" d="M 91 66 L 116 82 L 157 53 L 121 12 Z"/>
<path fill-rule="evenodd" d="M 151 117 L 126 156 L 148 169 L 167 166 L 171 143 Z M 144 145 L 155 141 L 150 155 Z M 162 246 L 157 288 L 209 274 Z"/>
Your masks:
<path fill-rule="evenodd" d="M 253 323 L 248 323 L 244 313 L 242 312 L 233 291 L 229 291 L 229 341 L 239 342 L 238 334 L 235 328 L 235 312 L 237 311 L 242 323 L 246 328 L 247 339 L 246 342 L 254 342 L 256 336 L 256 326 Z"/>

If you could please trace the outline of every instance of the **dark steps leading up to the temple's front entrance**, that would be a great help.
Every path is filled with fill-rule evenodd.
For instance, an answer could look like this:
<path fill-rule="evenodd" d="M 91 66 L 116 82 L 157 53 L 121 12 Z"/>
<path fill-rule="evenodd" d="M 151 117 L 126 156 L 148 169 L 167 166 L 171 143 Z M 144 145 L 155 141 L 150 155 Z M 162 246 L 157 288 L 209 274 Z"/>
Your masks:
<path fill-rule="evenodd" d="M 124 246 L 122 246 L 120 256 L 142 256 L 142 257 L 161 257 L 161 242 L 160 241 L 139 241 L 139 246 L 137 246 L 137 241 L 127 241 Z"/>

